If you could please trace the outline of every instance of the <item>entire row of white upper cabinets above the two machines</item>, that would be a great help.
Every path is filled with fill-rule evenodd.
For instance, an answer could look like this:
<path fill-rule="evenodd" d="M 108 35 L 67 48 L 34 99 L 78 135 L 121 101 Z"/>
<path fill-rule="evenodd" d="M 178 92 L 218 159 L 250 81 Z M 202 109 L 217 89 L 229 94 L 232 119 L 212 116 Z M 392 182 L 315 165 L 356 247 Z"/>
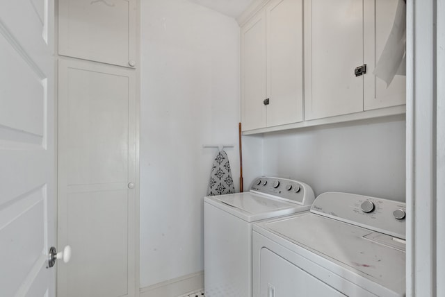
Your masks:
<path fill-rule="evenodd" d="M 241 23 L 243 131 L 405 112 L 405 76 L 387 86 L 373 74 L 397 6 L 398 0 L 271 0 L 257 8 Z"/>

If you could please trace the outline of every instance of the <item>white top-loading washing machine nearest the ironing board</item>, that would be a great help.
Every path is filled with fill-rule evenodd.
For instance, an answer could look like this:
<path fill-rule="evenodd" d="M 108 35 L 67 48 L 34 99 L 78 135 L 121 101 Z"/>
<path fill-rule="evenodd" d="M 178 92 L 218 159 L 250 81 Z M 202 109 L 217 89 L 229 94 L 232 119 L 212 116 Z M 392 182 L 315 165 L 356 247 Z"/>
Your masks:
<path fill-rule="evenodd" d="M 257 178 L 249 192 L 204 198 L 204 291 L 206 297 L 252 296 L 252 225 L 307 211 L 309 185 Z"/>

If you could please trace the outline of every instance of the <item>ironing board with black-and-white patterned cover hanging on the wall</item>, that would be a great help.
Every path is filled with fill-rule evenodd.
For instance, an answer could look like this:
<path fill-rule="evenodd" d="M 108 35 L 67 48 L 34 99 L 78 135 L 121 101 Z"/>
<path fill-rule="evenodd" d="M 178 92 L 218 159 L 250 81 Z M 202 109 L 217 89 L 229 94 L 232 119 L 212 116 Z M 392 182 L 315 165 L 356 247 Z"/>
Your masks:
<path fill-rule="evenodd" d="M 225 151 L 219 151 L 211 167 L 207 196 L 232 194 L 235 192 L 229 158 Z"/>

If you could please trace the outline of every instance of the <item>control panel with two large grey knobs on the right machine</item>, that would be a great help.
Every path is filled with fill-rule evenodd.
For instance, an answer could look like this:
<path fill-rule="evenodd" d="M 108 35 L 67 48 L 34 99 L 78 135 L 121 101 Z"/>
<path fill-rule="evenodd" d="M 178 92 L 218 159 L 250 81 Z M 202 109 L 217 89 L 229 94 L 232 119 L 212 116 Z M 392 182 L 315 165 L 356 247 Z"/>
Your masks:
<path fill-rule="evenodd" d="M 401 239 L 406 238 L 406 204 L 403 202 L 326 192 L 316 198 L 311 212 Z"/>

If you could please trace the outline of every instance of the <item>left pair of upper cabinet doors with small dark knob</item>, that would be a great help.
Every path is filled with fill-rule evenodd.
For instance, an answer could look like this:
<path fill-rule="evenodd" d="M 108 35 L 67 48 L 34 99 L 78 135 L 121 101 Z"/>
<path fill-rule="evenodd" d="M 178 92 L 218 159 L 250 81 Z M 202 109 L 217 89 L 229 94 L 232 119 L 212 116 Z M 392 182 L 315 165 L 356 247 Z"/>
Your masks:
<path fill-rule="evenodd" d="M 302 121 L 302 0 L 273 0 L 241 28 L 242 122 Z"/>

